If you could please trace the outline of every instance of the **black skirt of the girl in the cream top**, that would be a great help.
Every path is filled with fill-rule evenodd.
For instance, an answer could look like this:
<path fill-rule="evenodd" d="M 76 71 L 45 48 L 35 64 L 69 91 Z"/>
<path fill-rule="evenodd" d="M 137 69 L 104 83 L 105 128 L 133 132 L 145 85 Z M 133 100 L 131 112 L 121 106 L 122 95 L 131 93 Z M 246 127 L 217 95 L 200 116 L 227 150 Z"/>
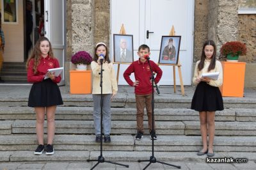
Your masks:
<path fill-rule="evenodd" d="M 222 111 L 224 108 L 220 89 L 210 86 L 206 82 L 200 82 L 196 86 L 191 109 L 199 112 Z"/>

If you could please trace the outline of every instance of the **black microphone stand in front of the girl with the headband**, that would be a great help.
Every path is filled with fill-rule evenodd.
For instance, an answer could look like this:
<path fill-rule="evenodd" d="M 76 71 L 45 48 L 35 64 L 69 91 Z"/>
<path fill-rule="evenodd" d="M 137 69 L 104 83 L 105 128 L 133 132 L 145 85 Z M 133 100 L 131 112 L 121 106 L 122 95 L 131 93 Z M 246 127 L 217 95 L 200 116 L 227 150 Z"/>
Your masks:
<path fill-rule="evenodd" d="M 102 95 L 102 72 L 104 71 L 102 69 L 102 64 L 103 64 L 103 59 L 100 59 L 100 155 L 98 157 L 98 159 L 96 160 L 93 160 L 93 159 L 87 159 L 87 162 L 90 162 L 90 161 L 97 161 L 97 164 L 95 164 L 95 166 L 93 166 L 90 170 L 94 169 L 99 163 L 103 163 L 103 162 L 108 162 L 110 164 L 116 164 L 116 165 L 119 165 L 119 166 L 125 166 L 125 167 L 129 167 L 128 165 L 124 165 L 124 164 L 119 164 L 119 163 L 116 163 L 116 162 L 111 162 L 111 161 L 108 161 L 108 160 L 105 160 L 105 158 L 102 156 L 102 128 L 103 128 L 103 123 L 102 123 L 102 120 L 103 120 L 103 95 Z"/>

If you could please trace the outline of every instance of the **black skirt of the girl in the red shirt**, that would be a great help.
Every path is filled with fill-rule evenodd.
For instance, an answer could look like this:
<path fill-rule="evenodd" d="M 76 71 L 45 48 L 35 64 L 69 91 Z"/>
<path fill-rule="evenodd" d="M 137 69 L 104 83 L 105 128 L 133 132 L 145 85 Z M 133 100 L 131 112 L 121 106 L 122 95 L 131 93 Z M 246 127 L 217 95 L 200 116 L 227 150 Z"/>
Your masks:
<path fill-rule="evenodd" d="M 62 104 L 60 89 L 51 79 L 35 82 L 31 87 L 28 98 L 29 107 L 49 107 Z"/>

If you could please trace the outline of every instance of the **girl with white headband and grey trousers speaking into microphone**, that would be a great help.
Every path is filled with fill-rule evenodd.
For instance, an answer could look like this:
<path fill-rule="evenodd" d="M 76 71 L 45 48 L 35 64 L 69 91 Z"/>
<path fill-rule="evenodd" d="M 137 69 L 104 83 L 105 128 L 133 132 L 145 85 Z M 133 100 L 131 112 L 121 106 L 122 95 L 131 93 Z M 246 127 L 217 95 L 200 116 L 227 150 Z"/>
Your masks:
<path fill-rule="evenodd" d="M 101 61 L 100 61 L 101 60 Z M 113 63 L 110 62 L 108 48 L 105 43 L 97 43 L 95 46 L 95 54 L 93 61 L 91 63 L 92 73 L 93 73 L 93 120 L 95 127 L 95 141 L 100 143 L 100 98 L 101 98 L 101 88 L 100 88 L 100 70 L 102 72 L 102 122 L 104 129 L 104 142 L 110 143 L 110 130 L 111 130 L 111 100 L 117 93 L 117 82 L 115 76 L 115 69 Z"/>

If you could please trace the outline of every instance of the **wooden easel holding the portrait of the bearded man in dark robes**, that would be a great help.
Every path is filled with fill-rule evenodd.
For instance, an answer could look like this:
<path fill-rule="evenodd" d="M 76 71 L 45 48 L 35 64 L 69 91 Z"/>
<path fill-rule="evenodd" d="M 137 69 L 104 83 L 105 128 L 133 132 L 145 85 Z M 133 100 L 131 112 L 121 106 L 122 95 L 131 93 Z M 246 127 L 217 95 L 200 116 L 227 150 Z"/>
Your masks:
<path fill-rule="evenodd" d="M 174 27 L 172 26 L 172 29 L 169 33 L 170 36 L 175 36 L 175 30 Z M 176 93 L 176 75 L 175 75 L 175 66 L 178 66 L 178 71 L 179 71 L 179 77 L 180 77 L 180 88 L 181 88 L 181 94 L 184 97 L 185 95 L 185 91 L 184 91 L 184 86 L 183 86 L 183 81 L 182 81 L 182 75 L 181 75 L 181 65 L 180 65 L 180 61 L 178 60 L 178 64 L 177 65 L 173 65 L 173 64 L 158 64 L 158 65 L 170 65 L 173 66 L 173 91 L 174 93 Z"/>

